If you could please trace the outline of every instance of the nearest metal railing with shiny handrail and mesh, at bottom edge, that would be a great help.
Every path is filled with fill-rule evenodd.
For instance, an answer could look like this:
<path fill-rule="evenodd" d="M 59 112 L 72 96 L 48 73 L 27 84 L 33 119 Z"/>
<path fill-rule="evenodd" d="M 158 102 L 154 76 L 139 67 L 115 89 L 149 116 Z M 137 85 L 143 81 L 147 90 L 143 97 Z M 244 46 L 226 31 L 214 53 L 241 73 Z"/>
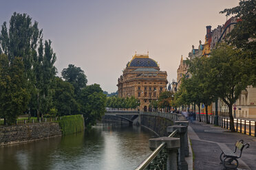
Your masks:
<path fill-rule="evenodd" d="M 178 130 L 173 131 L 168 137 L 173 137 Z M 142 169 L 166 169 L 167 153 L 164 150 L 166 143 L 163 142 L 150 154 L 135 170 Z"/>

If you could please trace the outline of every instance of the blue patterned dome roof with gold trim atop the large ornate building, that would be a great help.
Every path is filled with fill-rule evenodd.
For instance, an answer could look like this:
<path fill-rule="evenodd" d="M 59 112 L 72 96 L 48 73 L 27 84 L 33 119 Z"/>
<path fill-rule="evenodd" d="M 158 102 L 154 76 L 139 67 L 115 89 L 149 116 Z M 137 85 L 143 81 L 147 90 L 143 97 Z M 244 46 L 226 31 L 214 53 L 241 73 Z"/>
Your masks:
<path fill-rule="evenodd" d="M 158 63 L 149 58 L 149 55 L 137 55 L 132 58 L 129 62 L 128 66 L 136 66 L 136 67 L 158 67 Z"/>

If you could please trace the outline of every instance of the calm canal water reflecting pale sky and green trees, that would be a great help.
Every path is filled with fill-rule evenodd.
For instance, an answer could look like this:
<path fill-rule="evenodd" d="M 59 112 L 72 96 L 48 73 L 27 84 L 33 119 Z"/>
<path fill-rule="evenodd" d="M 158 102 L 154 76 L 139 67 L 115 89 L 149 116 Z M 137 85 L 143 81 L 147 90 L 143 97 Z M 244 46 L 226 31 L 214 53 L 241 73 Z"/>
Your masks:
<path fill-rule="evenodd" d="M 138 126 L 96 125 L 90 132 L 0 147 L 0 169 L 134 169 L 155 135 Z"/>

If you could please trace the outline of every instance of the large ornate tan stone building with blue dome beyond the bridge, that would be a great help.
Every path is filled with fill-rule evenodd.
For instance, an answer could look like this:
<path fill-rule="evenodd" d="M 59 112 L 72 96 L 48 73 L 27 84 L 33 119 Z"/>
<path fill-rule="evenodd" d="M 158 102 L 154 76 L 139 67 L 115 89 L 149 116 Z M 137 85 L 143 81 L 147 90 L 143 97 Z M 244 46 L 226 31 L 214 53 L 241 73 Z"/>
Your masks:
<path fill-rule="evenodd" d="M 118 78 L 118 97 L 134 96 L 140 110 L 151 111 L 150 103 L 167 90 L 167 72 L 160 71 L 158 62 L 147 54 L 135 54 Z"/>

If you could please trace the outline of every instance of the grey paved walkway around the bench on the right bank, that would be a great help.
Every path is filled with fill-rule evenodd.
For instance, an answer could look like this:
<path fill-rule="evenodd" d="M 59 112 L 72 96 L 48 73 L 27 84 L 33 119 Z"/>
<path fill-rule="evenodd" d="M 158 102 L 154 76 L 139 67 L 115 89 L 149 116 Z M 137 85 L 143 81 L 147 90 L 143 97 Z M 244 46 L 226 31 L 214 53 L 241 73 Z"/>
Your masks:
<path fill-rule="evenodd" d="M 242 158 L 238 159 L 237 169 L 256 169 L 256 137 L 246 134 L 232 133 L 221 127 L 211 124 L 193 121 L 189 123 L 189 138 L 191 139 L 195 160 L 193 167 L 195 170 L 222 170 L 224 166 L 220 164 L 220 154 L 222 147 L 235 149 L 235 142 L 243 139 L 244 143 L 250 143 L 248 149 L 244 149 Z"/>

